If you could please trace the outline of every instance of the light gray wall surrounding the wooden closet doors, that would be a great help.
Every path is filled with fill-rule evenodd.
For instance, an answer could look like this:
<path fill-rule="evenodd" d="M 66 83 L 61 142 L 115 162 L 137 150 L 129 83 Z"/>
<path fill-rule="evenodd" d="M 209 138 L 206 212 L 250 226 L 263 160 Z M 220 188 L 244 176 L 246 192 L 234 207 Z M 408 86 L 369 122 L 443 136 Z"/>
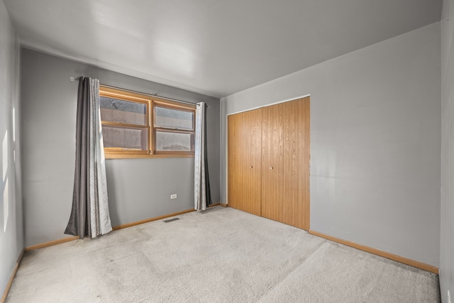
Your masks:
<path fill-rule="evenodd" d="M 221 99 L 226 115 L 311 95 L 311 229 L 439 265 L 440 23 Z"/>

